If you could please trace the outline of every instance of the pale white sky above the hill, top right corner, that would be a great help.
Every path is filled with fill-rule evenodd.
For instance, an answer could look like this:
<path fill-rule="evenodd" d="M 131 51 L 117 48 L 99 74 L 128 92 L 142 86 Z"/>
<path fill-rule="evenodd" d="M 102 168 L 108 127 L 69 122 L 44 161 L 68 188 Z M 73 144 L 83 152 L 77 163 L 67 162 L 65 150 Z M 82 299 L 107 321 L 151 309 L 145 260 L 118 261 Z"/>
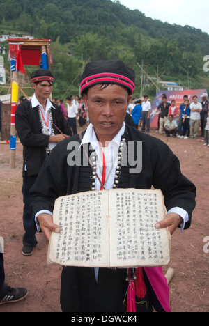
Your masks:
<path fill-rule="evenodd" d="M 169 24 L 189 25 L 209 34 L 208 0 L 119 0 L 131 10 Z"/>

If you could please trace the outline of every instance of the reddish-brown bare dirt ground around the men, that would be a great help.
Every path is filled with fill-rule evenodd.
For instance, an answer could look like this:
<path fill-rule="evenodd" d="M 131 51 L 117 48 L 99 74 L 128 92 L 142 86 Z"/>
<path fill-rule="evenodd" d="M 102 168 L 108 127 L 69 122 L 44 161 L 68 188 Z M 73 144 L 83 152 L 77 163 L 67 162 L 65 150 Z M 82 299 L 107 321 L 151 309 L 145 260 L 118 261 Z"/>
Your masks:
<path fill-rule="evenodd" d="M 177 230 L 172 237 L 171 262 L 175 270 L 170 283 L 173 312 L 209 311 L 209 254 L 203 239 L 209 236 L 209 147 L 202 139 L 174 139 L 150 133 L 169 145 L 181 163 L 182 171 L 197 187 L 196 209 L 189 230 Z M 3 304 L 0 312 L 59 312 L 61 267 L 47 265 L 47 240 L 37 234 L 32 256 L 22 255 L 22 145 L 17 143 L 16 167 L 9 167 L 9 145 L 0 144 L 0 235 L 5 240 L 6 283 L 29 290 L 26 299 Z"/>

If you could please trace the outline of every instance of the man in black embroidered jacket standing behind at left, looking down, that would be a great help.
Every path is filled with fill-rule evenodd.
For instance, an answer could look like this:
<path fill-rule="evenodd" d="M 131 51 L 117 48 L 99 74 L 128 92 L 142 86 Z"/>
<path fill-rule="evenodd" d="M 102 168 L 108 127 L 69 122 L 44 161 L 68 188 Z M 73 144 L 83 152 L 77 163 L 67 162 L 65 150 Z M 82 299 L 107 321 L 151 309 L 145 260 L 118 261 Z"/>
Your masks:
<path fill-rule="evenodd" d="M 31 187 L 36 182 L 45 158 L 57 143 L 70 136 L 71 131 L 61 109 L 49 100 L 54 77 L 49 70 L 36 70 L 31 74 L 33 97 L 17 106 L 15 127 L 23 145 L 24 235 L 22 254 L 33 254 L 36 247 L 36 228 L 31 213 Z"/>

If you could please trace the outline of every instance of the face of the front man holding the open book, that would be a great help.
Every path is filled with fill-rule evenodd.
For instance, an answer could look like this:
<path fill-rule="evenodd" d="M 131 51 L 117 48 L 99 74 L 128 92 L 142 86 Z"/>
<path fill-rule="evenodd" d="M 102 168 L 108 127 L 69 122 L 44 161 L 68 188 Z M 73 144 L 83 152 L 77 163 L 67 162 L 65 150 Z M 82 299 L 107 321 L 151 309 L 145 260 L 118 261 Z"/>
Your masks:
<path fill-rule="evenodd" d="M 111 141 L 121 129 L 132 96 L 123 86 L 110 84 L 102 89 L 95 85 L 83 96 L 89 120 L 93 124 L 98 140 Z"/>

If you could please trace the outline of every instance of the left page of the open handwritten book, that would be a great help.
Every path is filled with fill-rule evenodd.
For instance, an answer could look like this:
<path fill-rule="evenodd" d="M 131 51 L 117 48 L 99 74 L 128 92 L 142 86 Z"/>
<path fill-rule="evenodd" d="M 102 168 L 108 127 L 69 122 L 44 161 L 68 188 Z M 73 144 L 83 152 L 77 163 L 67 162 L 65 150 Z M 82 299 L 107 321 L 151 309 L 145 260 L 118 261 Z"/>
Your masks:
<path fill-rule="evenodd" d="M 108 192 L 82 192 L 56 199 L 48 263 L 109 267 Z"/>

